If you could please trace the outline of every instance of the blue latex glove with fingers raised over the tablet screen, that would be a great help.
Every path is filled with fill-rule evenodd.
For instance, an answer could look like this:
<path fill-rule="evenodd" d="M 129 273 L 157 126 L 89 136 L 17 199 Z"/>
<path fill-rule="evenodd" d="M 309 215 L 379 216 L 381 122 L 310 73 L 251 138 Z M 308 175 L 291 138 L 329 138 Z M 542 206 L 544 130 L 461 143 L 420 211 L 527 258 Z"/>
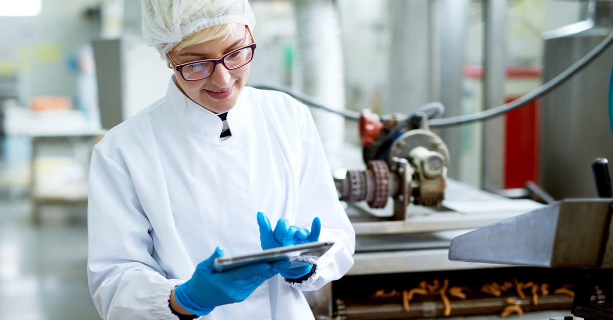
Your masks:
<path fill-rule="evenodd" d="M 319 239 L 321 232 L 321 221 L 316 217 L 311 224 L 311 232 L 307 228 L 289 225 L 286 218 L 281 218 L 277 221 L 275 231 L 270 226 L 268 217 L 262 212 L 257 212 L 257 225 L 260 228 L 260 242 L 262 250 L 278 247 L 286 247 L 295 244 L 307 244 L 308 242 L 316 242 Z M 313 266 L 307 262 L 291 262 L 291 265 L 279 273 L 281 277 L 288 279 L 296 279 L 307 275 L 311 272 Z"/>

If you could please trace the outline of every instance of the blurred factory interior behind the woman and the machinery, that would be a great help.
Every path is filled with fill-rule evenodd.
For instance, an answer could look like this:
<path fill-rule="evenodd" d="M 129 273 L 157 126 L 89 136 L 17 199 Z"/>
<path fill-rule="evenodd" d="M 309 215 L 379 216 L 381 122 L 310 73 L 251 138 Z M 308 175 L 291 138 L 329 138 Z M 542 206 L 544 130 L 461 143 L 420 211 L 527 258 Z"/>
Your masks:
<path fill-rule="evenodd" d="M 251 0 L 248 85 L 335 110 L 441 102 L 443 117 L 471 114 L 536 89 L 609 34 L 613 11 L 596 2 L 610 1 Z M 89 155 L 163 97 L 172 72 L 142 39 L 135 0 L 0 1 L 0 30 L 0 319 L 99 319 L 86 282 Z M 547 47 L 577 32 L 595 40 Z M 605 53 L 549 102 L 433 128 L 447 177 L 506 198 L 527 197 L 527 182 L 554 199 L 596 196 L 590 163 L 613 154 L 610 70 Z M 358 123 L 312 111 L 331 169 L 365 168 Z"/>

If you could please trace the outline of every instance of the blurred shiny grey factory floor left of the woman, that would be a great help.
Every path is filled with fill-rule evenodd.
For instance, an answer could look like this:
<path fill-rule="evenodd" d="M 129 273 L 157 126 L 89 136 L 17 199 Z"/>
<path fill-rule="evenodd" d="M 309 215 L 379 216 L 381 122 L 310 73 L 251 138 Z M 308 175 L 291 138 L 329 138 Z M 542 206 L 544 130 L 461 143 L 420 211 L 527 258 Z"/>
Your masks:
<path fill-rule="evenodd" d="M 0 196 L 0 320 L 100 319 L 87 286 L 85 207 L 48 207 L 40 226 L 24 196 Z"/>

